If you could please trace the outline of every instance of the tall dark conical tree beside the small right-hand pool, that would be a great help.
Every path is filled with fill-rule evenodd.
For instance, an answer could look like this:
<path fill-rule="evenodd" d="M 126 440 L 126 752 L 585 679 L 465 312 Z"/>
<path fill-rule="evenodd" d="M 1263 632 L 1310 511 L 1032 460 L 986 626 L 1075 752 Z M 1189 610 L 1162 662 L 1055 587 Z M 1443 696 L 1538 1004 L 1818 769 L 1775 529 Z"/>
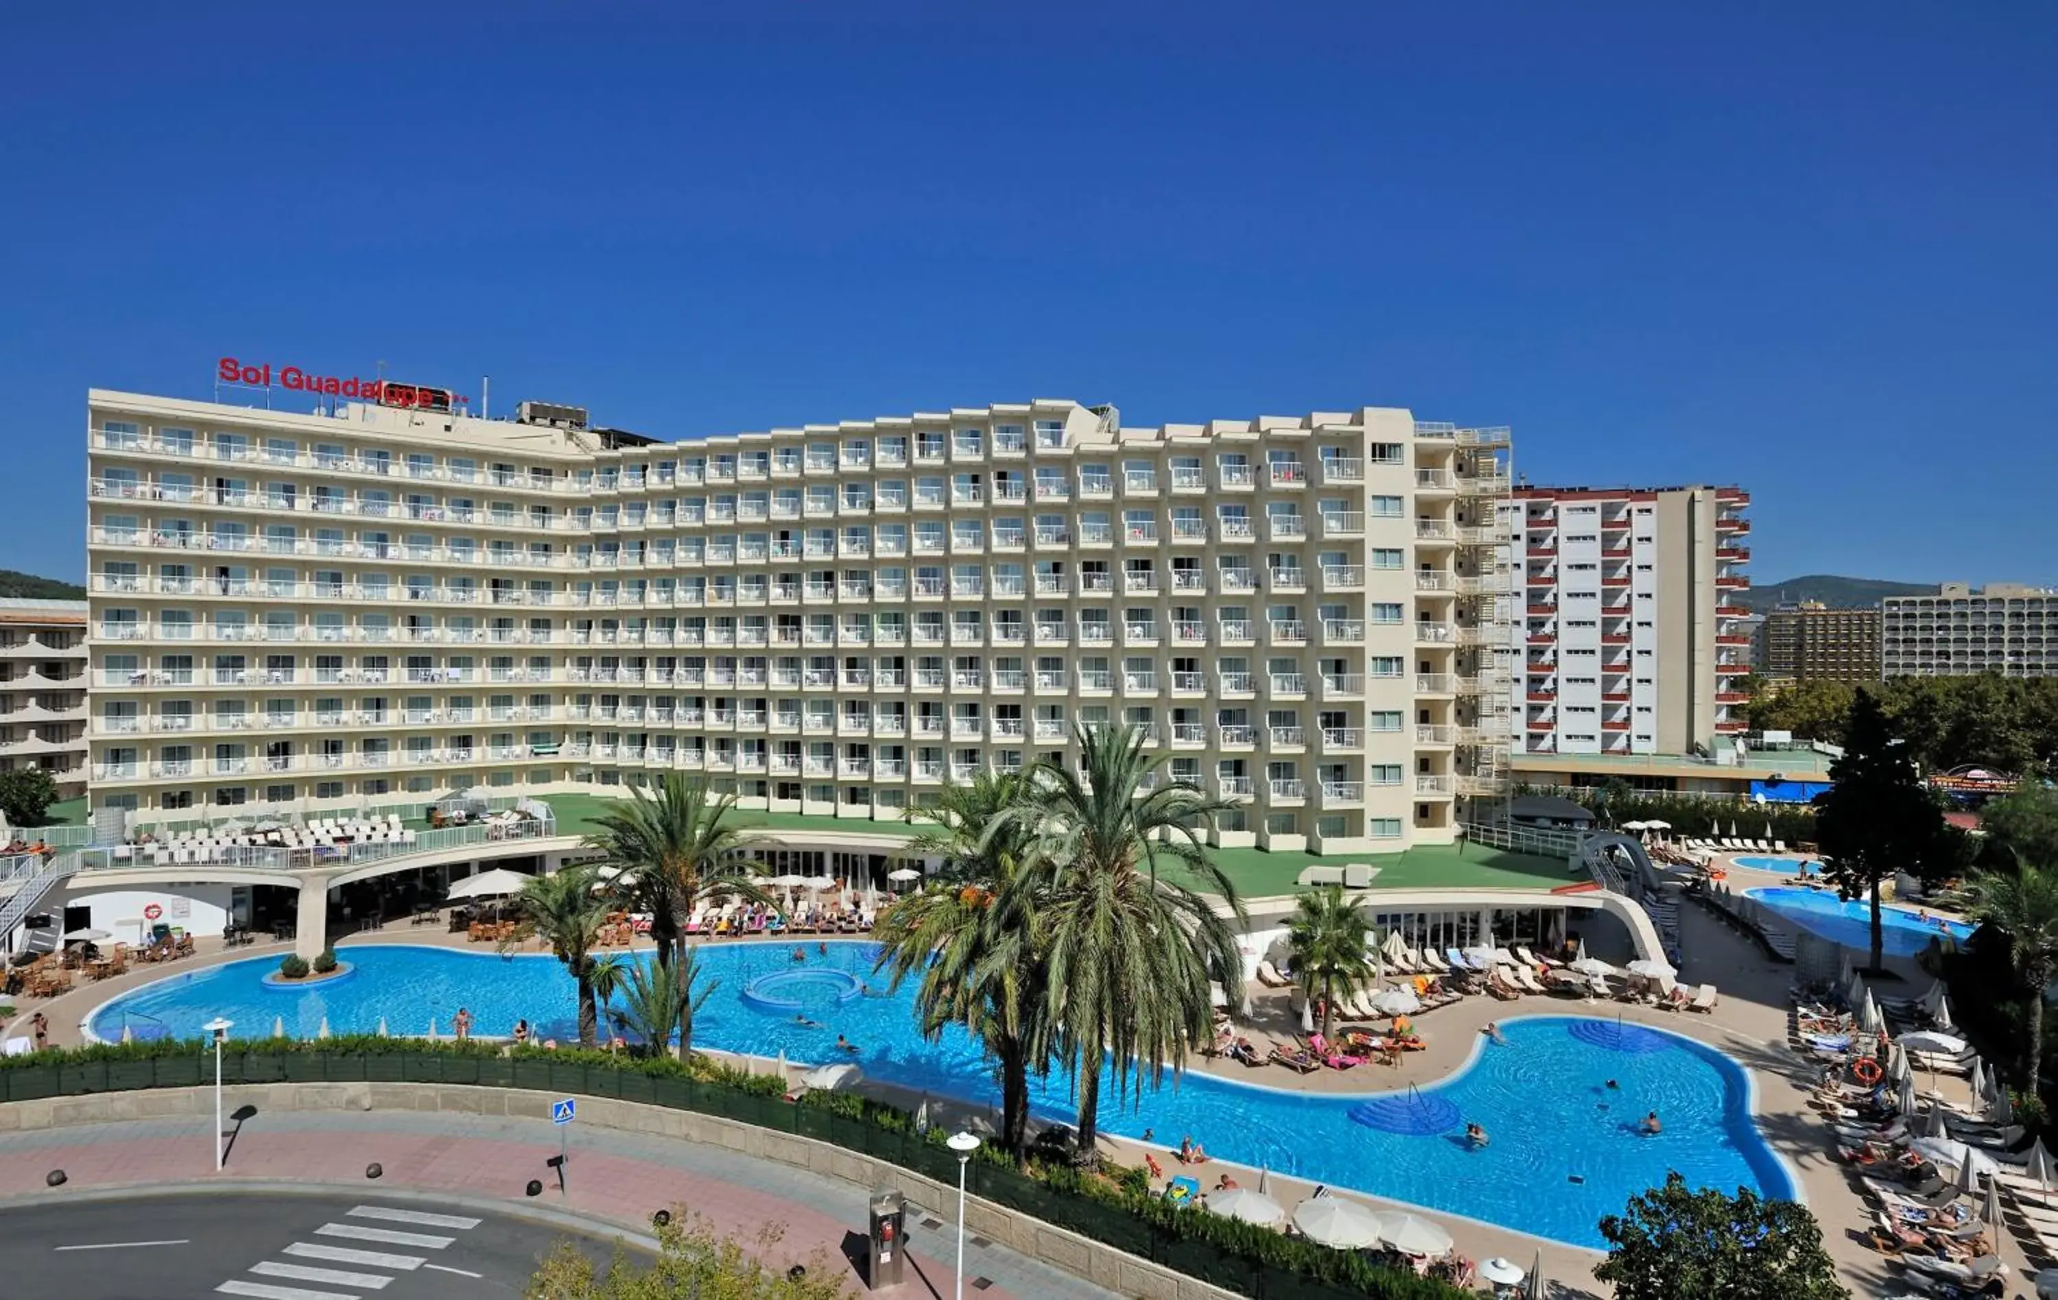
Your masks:
<path fill-rule="evenodd" d="M 1945 821 L 1879 699 L 1858 691 L 1844 734 L 1844 757 L 1830 763 L 1836 786 L 1817 802 L 1817 841 L 1830 884 L 1846 899 L 1871 901 L 1871 969 L 1877 971 L 1883 948 L 1879 887 L 1897 870 L 1932 870 L 1947 852 Z"/>

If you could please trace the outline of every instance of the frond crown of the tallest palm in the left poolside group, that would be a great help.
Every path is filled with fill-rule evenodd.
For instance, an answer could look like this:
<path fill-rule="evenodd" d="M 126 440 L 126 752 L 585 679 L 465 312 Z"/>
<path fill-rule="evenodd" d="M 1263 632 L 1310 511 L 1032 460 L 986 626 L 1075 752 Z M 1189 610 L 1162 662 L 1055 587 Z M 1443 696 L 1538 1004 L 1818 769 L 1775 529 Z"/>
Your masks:
<path fill-rule="evenodd" d="M 724 825 L 735 794 L 710 794 L 706 782 L 677 771 L 665 773 L 654 796 L 642 788 L 632 794 L 597 819 L 599 831 L 587 835 L 587 845 L 622 872 L 615 884 L 624 899 L 650 913 L 659 956 L 669 959 L 681 946 L 696 903 L 716 895 L 768 901 L 749 882 L 741 831 Z"/>

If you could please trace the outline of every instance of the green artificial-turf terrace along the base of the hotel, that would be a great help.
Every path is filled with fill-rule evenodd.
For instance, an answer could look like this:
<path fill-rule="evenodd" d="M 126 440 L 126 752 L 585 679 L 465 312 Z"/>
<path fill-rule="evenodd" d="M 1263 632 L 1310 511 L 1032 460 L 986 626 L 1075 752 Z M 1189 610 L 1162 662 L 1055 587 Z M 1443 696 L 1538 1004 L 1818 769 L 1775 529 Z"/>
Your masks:
<path fill-rule="evenodd" d="M 597 794 L 549 794 L 543 796 L 543 802 L 558 815 L 560 833 L 584 835 L 619 800 Z M 914 835 L 918 831 L 897 821 L 850 821 L 747 808 L 737 808 L 731 817 L 735 817 L 737 825 L 774 831 L 844 831 L 852 835 Z M 1377 866 L 1379 874 L 1373 876 L 1375 893 L 1381 889 L 1556 889 L 1558 884 L 1576 880 L 1558 858 L 1511 854 L 1480 843 L 1416 845 L 1397 854 L 1214 850 L 1214 862 L 1237 887 L 1237 893 L 1253 899 L 1294 893 L 1299 889 L 1294 878 L 1303 868 L 1338 866 L 1342 862 L 1371 862 Z"/>

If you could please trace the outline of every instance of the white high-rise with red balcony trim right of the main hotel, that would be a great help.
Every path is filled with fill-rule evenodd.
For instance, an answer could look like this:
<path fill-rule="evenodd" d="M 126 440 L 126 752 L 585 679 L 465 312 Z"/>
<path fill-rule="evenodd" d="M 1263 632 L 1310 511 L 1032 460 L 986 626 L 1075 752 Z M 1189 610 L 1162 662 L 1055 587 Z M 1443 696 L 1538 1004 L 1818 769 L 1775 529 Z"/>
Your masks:
<path fill-rule="evenodd" d="M 1749 500 L 1739 487 L 1515 490 L 1506 658 L 1523 753 L 1683 755 L 1743 730 Z"/>

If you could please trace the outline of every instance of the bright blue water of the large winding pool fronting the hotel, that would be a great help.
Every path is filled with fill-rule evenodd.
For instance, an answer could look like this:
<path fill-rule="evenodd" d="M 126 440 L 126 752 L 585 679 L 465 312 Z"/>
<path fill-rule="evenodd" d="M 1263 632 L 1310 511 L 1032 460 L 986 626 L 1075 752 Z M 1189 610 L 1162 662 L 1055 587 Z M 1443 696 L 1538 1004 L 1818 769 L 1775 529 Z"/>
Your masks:
<path fill-rule="evenodd" d="M 803 969 L 788 952 L 780 944 L 702 948 L 702 969 L 720 985 L 696 1020 L 696 1043 L 825 1061 L 838 1057 L 831 1045 L 842 1033 L 860 1047 L 856 1059 L 871 1078 L 998 1105 L 992 1072 L 969 1037 L 951 1028 L 926 1043 L 916 1033 L 912 985 L 850 1000 L 840 1000 L 842 979 L 759 985 L 778 1004 L 799 1004 L 821 1028 L 747 1000 L 753 979 Z M 270 1035 L 274 1018 L 284 1018 L 288 1035 L 313 1037 L 323 1018 L 348 1033 L 372 1031 L 383 1016 L 397 1035 L 422 1035 L 434 1016 L 447 1035 L 451 1016 L 467 1006 L 482 1035 L 504 1035 L 525 1016 L 543 1035 L 576 1039 L 572 981 L 552 956 L 385 944 L 346 946 L 342 954 L 356 967 L 344 983 L 270 989 L 259 981 L 276 959 L 249 959 L 144 985 L 95 1012 L 91 1028 L 119 1039 L 123 1024 L 146 1033 L 161 1022 L 167 1033 L 196 1037 L 222 1014 L 235 1020 L 237 1037 Z M 811 946 L 805 969 L 868 981 L 871 959 L 871 944 L 831 942 L 827 959 Z M 1163 1090 L 1144 1090 L 1130 1107 L 1103 1086 L 1101 1127 L 1128 1138 L 1148 1127 L 1171 1146 L 1192 1133 L 1216 1156 L 1581 1247 L 1603 1247 L 1599 1218 L 1661 1185 L 1671 1168 L 1696 1187 L 1795 1195 L 1751 1121 L 1749 1080 L 1727 1055 L 1616 1020 L 1529 1016 L 1500 1026 L 1504 1045 L 1480 1039 L 1459 1074 L 1422 1090 L 1309 1096 L 1190 1074 L 1177 1088 L 1167 1078 Z M 1276 1080 L 1280 1068 L 1253 1070 L 1251 1078 Z M 1371 1068 L 1358 1078 L 1381 1080 Z M 1074 1119 L 1066 1078 L 1033 1088 L 1039 1117 Z M 1657 1138 L 1634 1131 L 1648 1111 L 1665 1123 Z M 1465 1123 L 1484 1125 L 1492 1142 L 1469 1150 Z"/>

